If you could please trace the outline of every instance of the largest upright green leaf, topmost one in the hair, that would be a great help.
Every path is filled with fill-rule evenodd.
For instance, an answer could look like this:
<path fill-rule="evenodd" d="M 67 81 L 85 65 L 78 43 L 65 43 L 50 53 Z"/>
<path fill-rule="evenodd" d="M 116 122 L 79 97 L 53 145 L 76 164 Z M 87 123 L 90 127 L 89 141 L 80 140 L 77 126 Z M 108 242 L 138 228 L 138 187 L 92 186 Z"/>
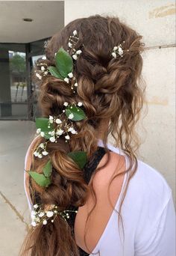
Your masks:
<path fill-rule="evenodd" d="M 68 76 L 68 73 L 72 72 L 72 57 L 62 47 L 58 50 L 57 54 L 55 55 L 55 64 L 58 72 L 64 78 Z"/>

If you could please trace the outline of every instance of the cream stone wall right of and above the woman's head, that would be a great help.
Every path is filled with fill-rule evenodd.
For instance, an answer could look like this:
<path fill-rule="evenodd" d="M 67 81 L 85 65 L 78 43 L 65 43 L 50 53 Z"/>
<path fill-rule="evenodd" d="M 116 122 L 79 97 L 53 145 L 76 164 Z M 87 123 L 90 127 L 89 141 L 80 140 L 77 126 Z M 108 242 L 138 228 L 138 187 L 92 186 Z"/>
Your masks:
<path fill-rule="evenodd" d="M 119 16 L 143 36 L 148 114 L 137 128 L 139 159 L 157 168 L 175 197 L 175 1 L 65 1 L 65 25 L 93 14 Z M 159 48 L 161 46 L 161 48 Z"/>

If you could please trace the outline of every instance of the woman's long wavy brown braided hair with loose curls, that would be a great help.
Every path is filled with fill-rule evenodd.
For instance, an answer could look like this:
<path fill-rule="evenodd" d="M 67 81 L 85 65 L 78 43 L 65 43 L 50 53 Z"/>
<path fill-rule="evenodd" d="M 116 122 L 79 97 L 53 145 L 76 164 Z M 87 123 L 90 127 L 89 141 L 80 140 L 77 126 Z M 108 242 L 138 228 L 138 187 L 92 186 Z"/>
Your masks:
<path fill-rule="evenodd" d="M 40 87 L 38 103 L 43 117 L 60 114 L 65 101 L 68 103 L 81 101 L 87 115 L 86 120 L 75 122 L 78 134 L 72 135 L 69 143 L 66 143 L 60 136 L 57 143 L 48 143 L 48 156 L 43 159 L 34 159 L 32 156 L 32 170 L 41 172 L 49 158 L 54 172 L 51 177 L 51 185 L 48 188 L 42 189 L 33 180 L 31 189 L 40 193 L 43 204 L 57 204 L 60 210 L 66 209 L 69 204 L 76 207 L 84 205 L 89 192 L 92 192 L 95 198 L 92 179 L 87 186 L 82 171 L 67 156 L 67 153 L 73 150 L 84 150 L 89 159 L 97 150 L 96 135 L 105 120 L 110 120 L 110 123 L 107 132 L 104 132 L 104 147 L 106 148 L 107 137 L 111 134 L 116 141 L 115 146 L 124 150 L 129 157 L 130 165 L 125 171 L 129 172 L 129 183 L 137 169 L 135 151 L 139 147 L 138 137 L 133 128 L 139 120 L 144 100 L 144 90 L 142 91 L 142 88 L 139 87 L 142 71 L 140 53 L 144 48 L 144 43 L 140 42 L 142 36 L 128 25 L 120 22 L 118 17 L 95 15 L 75 19 L 62 31 L 51 37 L 45 49 L 46 60 L 42 61 L 48 65 L 54 65 L 54 53 L 61 46 L 63 49 L 68 49 L 68 39 L 74 30 L 77 30 L 79 35 L 75 49 L 79 49 L 84 44 L 73 71 L 78 81 L 77 93 L 73 94 L 66 82 L 54 76 L 43 77 L 42 81 L 35 81 L 36 76 L 33 77 L 34 82 Z M 129 49 L 129 51 L 125 51 L 123 58 L 113 58 L 111 55 L 113 46 L 119 45 L 124 40 L 123 49 Z M 40 61 L 38 62 L 40 63 Z M 38 68 L 36 65 L 34 70 Z M 45 139 L 39 137 L 36 146 L 43 141 Z M 35 147 L 32 153 L 34 150 Z M 108 161 L 109 157 L 104 166 Z M 95 172 L 99 169 L 97 168 Z M 120 210 L 128 183 L 122 197 Z M 37 203 L 35 198 L 33 201 L 34 204 Z M 86 241 L 86 234 L 84 240 Z M 78 255 L 78 246 L 71 235 L 69 225 L 62 217 L 57 216 L 54 223 L 39 225 L 28 231 L 21 255 Z"/>

